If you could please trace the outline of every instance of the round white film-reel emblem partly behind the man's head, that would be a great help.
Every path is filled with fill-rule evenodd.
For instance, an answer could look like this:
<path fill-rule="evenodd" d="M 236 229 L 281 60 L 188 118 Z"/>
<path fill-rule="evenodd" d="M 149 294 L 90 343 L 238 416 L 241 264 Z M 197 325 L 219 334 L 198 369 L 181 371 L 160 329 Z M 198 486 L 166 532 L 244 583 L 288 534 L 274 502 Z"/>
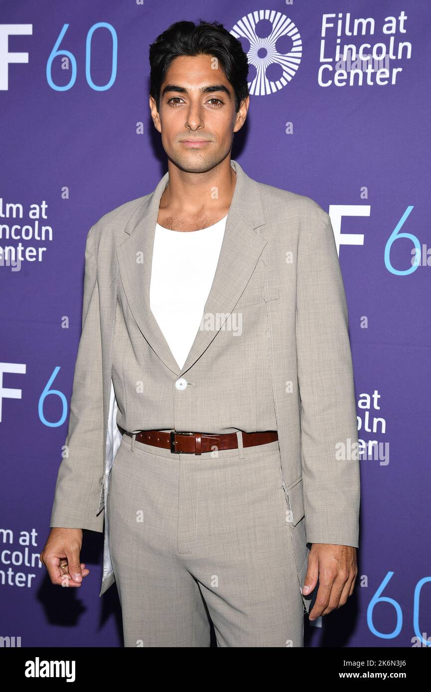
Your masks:
<path fill-rule="evenodd" d="M 243 46 L 249 63 L 249 93 L 264 96 L 283 89 L 302 56 L 301 35 L 289 17 L 276 10 L 256 10 L 230 32 Z"/>

